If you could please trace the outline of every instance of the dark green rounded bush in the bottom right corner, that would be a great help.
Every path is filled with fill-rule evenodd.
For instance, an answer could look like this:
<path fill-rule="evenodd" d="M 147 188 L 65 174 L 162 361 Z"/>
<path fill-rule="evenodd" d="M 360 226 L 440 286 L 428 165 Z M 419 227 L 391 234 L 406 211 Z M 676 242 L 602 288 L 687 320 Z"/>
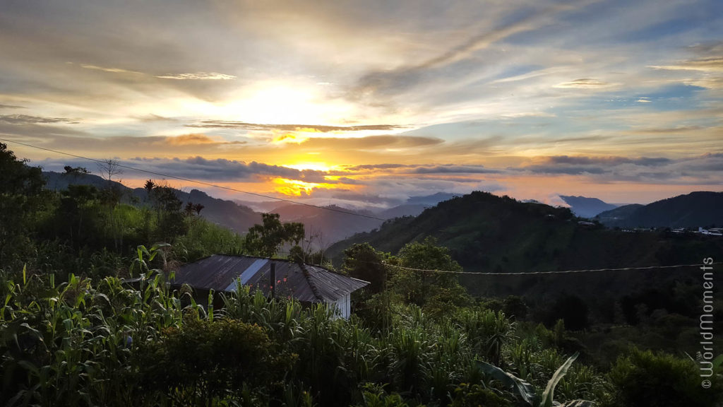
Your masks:
<path fill-rule="evenodd" d="M 723 398 L 723 377 L 709 377 L 711 388 L 701 387 L 696 363 L 675 356 L 633 349 L 620 356 L 609 372 L 617 403 L 625 406 L 714 406 Z"/>

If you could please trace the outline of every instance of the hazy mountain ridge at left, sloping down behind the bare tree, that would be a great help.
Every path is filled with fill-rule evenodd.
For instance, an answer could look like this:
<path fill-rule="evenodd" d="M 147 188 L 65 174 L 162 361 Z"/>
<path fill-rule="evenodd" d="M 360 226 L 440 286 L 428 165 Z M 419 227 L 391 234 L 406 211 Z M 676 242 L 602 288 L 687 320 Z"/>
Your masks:
<path fill-rule="evenodd" d="M 108 180 L 104 180 L 102 177 L 98 177 L 98 175 L 68 175 L 60 172 L 43 172 L 43 176 L 46 178 L 46 188 L 53 190 L 64 190 L 68 188 L 68 185 L 93 185 L 98 189 L 113 185 L 114 188 L 118 188 L 121 191 L 124 196 L 123 201 L 127 204 L 133 204 L 134 201 L 147 201 L 147 191 L 144 188 L 131 189 L 115 181 L 109 184 Z M 187 202 L 203 205 L 204 208 L 201 211 L 203 218 L 209 222 L 228 227 L 237 233 L 247 232 L 249 227 L 261 223 L 261 214 L 255 212 L 248 206 L 213 198 L 207 193 L 197 189 L 193 189 L 191 192 L 184 192 L 177 189 L 174 191 L 176 197 L 179 198 L 184 205 Z"/>

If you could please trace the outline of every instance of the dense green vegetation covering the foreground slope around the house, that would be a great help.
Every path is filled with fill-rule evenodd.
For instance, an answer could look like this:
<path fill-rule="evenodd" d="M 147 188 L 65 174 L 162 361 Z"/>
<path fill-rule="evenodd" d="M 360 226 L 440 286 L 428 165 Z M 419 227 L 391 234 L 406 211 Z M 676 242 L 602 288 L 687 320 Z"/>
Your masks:
<path fill-rule="evenodd" d="M 338 272 L 372 282 L 348 320 L 240 286 L 200 301 L 190 288 L 169 289 L 176 264 L 210 253 L 273 256 L 299 243 L 303 227 L 268 215 L 241 237 L 153 181 L 147 201 L 129 205 L 113 188 L 51 192 L 39 176 L 0 145 L 5 405 L 714 406 L 723 395 L 723 358 L 707 390 L 681 353 L 625 346 L 600 358 L 581 342 L 588 316 L 573 295 L 540 305 L 543 321 L 526 298 L 475 297 L 455 274 L 416 270 L 462 270 L 433 238 L 395 255 L 346 248 Z M 170 244 L 143 246 L 156 241 Z M 124 284 L 129 275 L 140 287 Z M 690 293 L 677 298 L 699 305 Z"/>

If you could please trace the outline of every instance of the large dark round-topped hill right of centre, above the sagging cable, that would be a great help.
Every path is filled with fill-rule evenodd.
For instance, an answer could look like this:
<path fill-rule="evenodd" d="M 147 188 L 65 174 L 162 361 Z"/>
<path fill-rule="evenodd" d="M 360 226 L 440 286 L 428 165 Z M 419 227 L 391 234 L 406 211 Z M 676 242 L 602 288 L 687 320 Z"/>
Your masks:
<path fill-rule="evenodd" d="M 345 248 L 363 242 L 397 253 L 406 243 L 431 236 L 469 272 L 691 264 L 700 256 L 723 256 L 723 240 L 674 235 L 608 230 L 578 223 L 568 208 L 474 192 L 416 218 L 393 219 L 379 230 L 354 235 L 331 246 L 327 254 L 341 261 Z"/>

